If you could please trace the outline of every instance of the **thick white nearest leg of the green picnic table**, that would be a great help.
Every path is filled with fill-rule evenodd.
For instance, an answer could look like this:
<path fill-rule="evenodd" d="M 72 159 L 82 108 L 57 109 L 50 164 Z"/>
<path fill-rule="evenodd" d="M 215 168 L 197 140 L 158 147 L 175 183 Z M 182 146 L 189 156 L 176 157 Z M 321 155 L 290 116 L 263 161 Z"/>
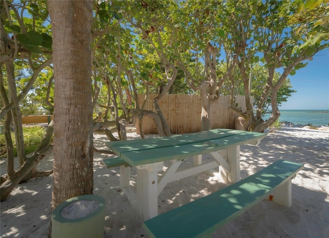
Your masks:
<path fill-rule="evenodd" d="M 163 162 L 137 167 L 137 208 L 144 221 L 158 215 L 158 172 Z"/>

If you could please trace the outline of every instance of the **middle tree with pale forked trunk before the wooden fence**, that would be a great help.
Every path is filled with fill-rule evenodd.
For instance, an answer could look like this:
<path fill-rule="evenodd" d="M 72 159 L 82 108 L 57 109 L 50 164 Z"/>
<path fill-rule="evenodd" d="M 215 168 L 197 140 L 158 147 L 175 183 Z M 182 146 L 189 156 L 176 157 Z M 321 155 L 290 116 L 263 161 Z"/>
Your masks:
<path fill-rule="evenodd" d="M 224 15 L 224 2 L 187 1 L 171 14 L 172 29 L 176 32 L 172 47 L 176 50 L 175 63 L 184 71 L 191 91 L 201 95 L 201 130 L 211 129 L 210 105 L 218 100 L 223 83 L 232 73 L 237 56 L 225 56 L 223 48 L 230 45 L 229 20 Z M 217 77 L 217 64 L 221 58 L 227 68 Z"/>

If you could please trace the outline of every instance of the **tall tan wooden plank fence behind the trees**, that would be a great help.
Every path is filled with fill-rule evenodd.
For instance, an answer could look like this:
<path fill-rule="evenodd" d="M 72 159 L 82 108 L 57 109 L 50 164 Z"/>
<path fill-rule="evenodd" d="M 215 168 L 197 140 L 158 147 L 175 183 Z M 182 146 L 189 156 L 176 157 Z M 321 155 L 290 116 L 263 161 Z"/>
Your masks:
<path fill-rule="evenodd" d="M 144 95 L 139 95 L 139 104 L 142 105 Z M 150 95 L 144 109 L 154 110 L 153 99 L 156 95 Z M 237 117 L 230 106 L 230 96 L 221 96 L 210 107 L 210 122 L 212 129 L 234 129 L 234 119 Z M 245 97 L 236 96 L 235 104 L 238 103 L 245 110 Z M 201 96 L 199 95 L 174 95 L 168 94 L 159 101 L 161 112 L 166 118 L 172 134 L 199 132 L 201 129 Z M 156 126 L 149 117 L 143 118 L 145 134 L 157 134 Z M 139 123 L 136 122 L 137 134 Z"/>

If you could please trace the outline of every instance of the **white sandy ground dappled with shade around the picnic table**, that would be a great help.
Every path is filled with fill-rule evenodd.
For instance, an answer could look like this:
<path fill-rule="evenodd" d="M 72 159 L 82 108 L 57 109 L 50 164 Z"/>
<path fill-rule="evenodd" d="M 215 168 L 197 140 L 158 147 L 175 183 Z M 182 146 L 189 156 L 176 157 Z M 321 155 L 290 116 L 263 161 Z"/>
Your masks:
<path fill-rule="evenodd" d="M 130 136 L 137 137 L 134 133 Z M 95 146 L 106 149 L 105 139 L 96 135 Z M 105 237 L 148 237 L 142 228 L 142 219 L 119 187 L 119 168 L 104 168 L 100 160 L 109 155 L 95 153 L 94 156 L 94 194 L 106 200 Z M 329 237 L 328 128 L 285 127 L 280 132 L 268 134 L 258 146 L 242 146 L 241 177 L 281 158 L 305 165 L 293 179 L 293 206 L 286 208 L 264 200 L 218 229 L 212 237 Z M 44 159 L 40 170 L 51 166 L 52 158 Z M 6 160 L 1 159 L 1 174 L 5 171 Z M 135 174 L 132 169 L 131 184 L 135 184 Z M 21 184 L 1 203 L 1 237 L 47 237 L 52 180 L 49 176 Z M 172 182 L 159 195 L 159 213 L 225 186 L 206 172 Z"/>

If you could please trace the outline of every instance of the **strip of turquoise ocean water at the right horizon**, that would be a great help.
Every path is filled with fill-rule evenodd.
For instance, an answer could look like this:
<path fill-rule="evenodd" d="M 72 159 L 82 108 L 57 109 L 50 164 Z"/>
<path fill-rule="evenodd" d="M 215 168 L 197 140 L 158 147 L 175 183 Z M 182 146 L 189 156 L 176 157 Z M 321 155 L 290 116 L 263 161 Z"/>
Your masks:
<path fill-rule="evenodd" d="M 328 110 L 280 110 L 280 121 L 287 121 L 302 125 L 312 124 L 314 126 L 329 124 Z M 269 118 L 270 114 L 266 114 L 264 119 Z"/>

